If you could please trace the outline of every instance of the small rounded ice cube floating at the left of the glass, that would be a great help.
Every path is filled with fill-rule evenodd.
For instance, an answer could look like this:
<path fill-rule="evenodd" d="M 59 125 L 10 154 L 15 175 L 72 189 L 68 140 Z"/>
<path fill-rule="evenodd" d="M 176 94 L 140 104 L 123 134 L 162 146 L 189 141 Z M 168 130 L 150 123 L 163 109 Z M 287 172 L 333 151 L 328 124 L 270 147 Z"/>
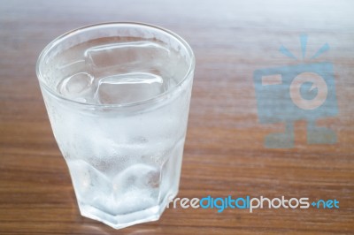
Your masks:
<path fill-rule="evenodd" d="M 87 96 L 91 91 L 91 85 L 94 78 L 87 72 L 79 72 L 72 76 L 61 80 L 58 84 L 58 91 L 66 98 L 77 101 L 86 101 Z"/>

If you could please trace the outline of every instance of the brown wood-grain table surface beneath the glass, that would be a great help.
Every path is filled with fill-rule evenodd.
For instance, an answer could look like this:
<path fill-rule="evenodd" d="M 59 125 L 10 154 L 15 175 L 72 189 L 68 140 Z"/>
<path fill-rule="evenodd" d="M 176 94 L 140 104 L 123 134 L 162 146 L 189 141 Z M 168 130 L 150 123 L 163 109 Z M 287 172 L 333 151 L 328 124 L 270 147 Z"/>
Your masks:
<path fill-rule="evenodd" d="M 352 1 L 1 1 L 0 234 L 354 234 L 353 16 Z M 104 21 L 165 27 L 195 51 L 180 198 L 284 195 L 340 208 L 168 208 L 119 231 L 80 216 L 35 63 L 59 34 Z M 302 63 L 301 34 L 305 58 L 330 46 L 314 61 L 333 64 L 339 113 L 318 124 L 337 141 L 308 144 L 304 120 L 294 148 L 266 148 L 284 124 L 259 123 L 253 72 Z"/>

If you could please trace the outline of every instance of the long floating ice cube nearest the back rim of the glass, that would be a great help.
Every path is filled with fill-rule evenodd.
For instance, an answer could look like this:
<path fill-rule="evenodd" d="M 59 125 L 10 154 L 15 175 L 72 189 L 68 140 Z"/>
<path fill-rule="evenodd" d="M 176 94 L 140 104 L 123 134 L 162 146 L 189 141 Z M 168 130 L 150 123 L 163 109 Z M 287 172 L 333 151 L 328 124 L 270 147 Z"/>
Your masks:
<path fill-rule="evenodd" d="M 150 72 L 161 67 L 170 51 L 156 42 L 120 42 L 87 49 L 86 66 L 95 78 L 118 73 Z"/>

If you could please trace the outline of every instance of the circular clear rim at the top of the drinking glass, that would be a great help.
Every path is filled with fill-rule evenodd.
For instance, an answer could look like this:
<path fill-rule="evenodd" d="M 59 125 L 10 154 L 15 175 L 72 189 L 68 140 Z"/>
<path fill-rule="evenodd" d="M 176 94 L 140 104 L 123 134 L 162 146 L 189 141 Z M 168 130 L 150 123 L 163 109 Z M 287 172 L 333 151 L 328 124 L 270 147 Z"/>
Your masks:
<path fill-rule="evenodd" d="M 90 30 L 90 29 L 95 29 L 95 28 L 100 28 L 100 27 L 105 27 L 105 26 L 146 27 L 146 28 L 156 29 L 158 31 L 161 31 L 162 33 L 172 36 L 174 39 L 177 40 L 177 42 L 180 42 L 181 45 L 187 50 L 188 56 L 190 58 L 188 71 L 184 74 L 183 78 L 174 87 L 172 87 L 171 89 L 168 89 L 164 93 L 162 93 L 160 95 L 156 95 L 156 96 L 154 96 L 150 99 L 147 99 L 147 100 L 143 100 L 143 101 L 139 101 L 139 102 L 127 102 L 127 103 L 112 103 L 112 104 L 105 103 L 105 104 L 102 104 L 102 103 L 89 103 L 89 102 L 75 101 L 73 99 L 65 97 L 64 95 L 58 94 L 52 88 L 50 88 L 47 84 L 45 84 L 45 82 L 43 82 L 43 76 L 42 76 L 42 72 L 40 70 L 40 64 L 43 63 L 43 58 L 50 52 L 51 49 L 53 49 L 55 46 L 57 46 L 58 44 L 63 42 L 65 39 L 72 37 L 75 34 L 82 34 L 82 32 L 84 32 L 85 30 Z M 138 105 L 142 105 L 142 104 L 146 104 L 146 103 L 150 103 L 150 102 L 156 102 L 159 99 L 163 99 L 165 96 L 172 94 L 177 89 L 177 87 L 180 87 L 181 84 L 189 78 L 191 73 L 194 72 L 195 65 L 196 65 L 196 57 L 193 53 L 193 50 L 189 46 L 189 43 L 186 42 L 178 34 L 175 34 L 172 31 L 165 29 L 164 27 L 157 27 L 154 25 L 145 24 L 145 23 L 141 23 L 141 22 L 104 22 L 104 23 L 98 23 L 98 24 L 87 25 L 84 27 L 75 28 L 73 30 L 70 30 L 70 31 L 64 33 L 64 34 L 59 35 L 57 38 L 52 40 L 44 49 L 42 49 L 42 52 L 39 55 L 36 65 L 35 65 L 35 72 L 36 72 L 36 75 L 37 75 L 37 78 L 39 80 L 41 87 L 44 87 L 46 89 L 46 91 L 48 91 L 50 93 L 50 95 L 54 95 L 56 98 L 58 98 L 60 100 L 64 100 L 65 102 L 73 102 L 75 104 L 84 105 L 84 106 L 88 106 L 88 107 L 97 107 L 97 108 L 98 107 L 99 108 L 119 108 L 119 107 L 121 107 L 121 108 L 123 108 L 123 107 L 138 106 Z"/>

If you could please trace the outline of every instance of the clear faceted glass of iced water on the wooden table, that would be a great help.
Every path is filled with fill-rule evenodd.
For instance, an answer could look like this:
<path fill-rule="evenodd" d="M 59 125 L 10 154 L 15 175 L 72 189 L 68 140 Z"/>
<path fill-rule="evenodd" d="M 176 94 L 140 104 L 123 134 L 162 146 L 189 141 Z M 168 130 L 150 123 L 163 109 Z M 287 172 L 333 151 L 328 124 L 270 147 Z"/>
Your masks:
<path fill-rule="evenodd" d="M 158 220 L 178 193 L 195 57 L 163 28 L 66 33 L 36 72 L 82 216 L 119 229 Z"/>

